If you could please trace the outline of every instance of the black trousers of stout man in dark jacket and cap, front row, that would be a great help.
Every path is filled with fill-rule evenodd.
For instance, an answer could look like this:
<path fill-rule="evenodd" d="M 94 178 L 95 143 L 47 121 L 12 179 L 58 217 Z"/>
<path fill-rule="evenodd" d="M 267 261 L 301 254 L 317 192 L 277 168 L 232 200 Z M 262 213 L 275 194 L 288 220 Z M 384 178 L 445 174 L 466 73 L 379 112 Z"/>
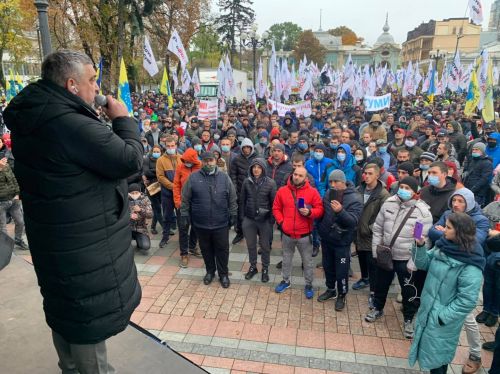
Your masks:
<path fill-rule="evenodd" d="M 207 273 L 219 274 L 219 277 L 228 275 L 229 261 L 229 227 L 207 230 L 195 227 L 200 241 L 201 254 L 205 261 Z"/>

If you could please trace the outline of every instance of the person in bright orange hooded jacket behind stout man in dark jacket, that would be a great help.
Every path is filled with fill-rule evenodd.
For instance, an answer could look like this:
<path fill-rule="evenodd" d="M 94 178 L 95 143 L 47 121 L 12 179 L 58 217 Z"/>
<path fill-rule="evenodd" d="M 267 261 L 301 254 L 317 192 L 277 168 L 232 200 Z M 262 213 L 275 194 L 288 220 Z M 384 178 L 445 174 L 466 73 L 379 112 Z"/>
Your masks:
<path fill-rule="evenodd" d="M 182 187 L 188 180 L 189 176 L 201 169 L 201 161 L 198 159 L 198 154 L 192 148 L 189 148 L 184 152 L 181 157 L 181 162 L 177 165 L 175 169 L 174 176 L 174 205 L 176 209 L 176 217 L 177 223 L 179 226 L 179 249 L 181 260 L 179 263 L 180 267 L 187 267 L 189 264 L 189 255 L 199 256 L 200 252 L 196 246 L 197 236 L 196 232 L 191 226 L 191 230 L 189 230 L 189 226 L 191 223 L 186 225 L 180 224 L 180 207 L 182 200 Z"/>

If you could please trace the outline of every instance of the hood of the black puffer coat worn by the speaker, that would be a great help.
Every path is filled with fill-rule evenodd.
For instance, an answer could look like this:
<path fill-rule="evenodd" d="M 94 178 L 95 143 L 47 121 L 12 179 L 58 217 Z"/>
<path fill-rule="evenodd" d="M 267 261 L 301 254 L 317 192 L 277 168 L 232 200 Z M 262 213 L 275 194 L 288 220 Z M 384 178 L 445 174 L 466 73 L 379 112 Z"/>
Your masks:
<path fill-rule="evenodd" d="M 50 120 L 75 113 L 99 121 L 94 109 L 78 96 L 41 79 L 26 86 L 10 101 L 3 118 L 14 134 L 29 134 Z"/>

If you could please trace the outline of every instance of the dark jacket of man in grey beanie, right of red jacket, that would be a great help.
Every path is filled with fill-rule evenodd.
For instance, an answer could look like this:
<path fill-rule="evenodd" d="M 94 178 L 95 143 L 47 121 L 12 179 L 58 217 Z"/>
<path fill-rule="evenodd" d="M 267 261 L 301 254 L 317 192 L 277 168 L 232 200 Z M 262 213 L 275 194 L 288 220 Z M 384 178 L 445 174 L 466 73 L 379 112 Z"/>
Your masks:
<path fill-rule="evenodd" d="M 347 182 L 347 188 L 341 201 L 342 210 L 335 213 L 330 206 L 329 191 L 323 197 L 325 213 L 318 227 L 319 235 L 322 241 L 335 246 L 349 246 L 356 234 L 356 227 L 363 210 L 363 201 L 354 185 Z"/>

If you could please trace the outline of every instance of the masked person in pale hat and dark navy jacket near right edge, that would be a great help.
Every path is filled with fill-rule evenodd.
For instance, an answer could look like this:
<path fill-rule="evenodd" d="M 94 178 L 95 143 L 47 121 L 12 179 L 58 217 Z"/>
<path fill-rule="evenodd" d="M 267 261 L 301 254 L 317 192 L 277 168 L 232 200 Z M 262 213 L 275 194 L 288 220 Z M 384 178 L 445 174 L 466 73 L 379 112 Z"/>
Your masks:
<path fill-rule="evenodd" d="M 493 163 L 486 155 L 484 143 L 472 146 L 472 160 L 464 170 L 464 186 L 474 193 L 477 203 L 484 207 L 489 203 L 490 180 L 493 174 Z"/>

